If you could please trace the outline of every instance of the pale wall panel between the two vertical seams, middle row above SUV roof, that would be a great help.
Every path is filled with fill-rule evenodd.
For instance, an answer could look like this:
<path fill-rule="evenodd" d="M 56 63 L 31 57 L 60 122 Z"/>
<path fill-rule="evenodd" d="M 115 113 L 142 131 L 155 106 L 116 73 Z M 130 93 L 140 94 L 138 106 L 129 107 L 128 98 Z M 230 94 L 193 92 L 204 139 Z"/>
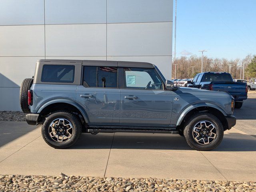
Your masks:
<path fill-rule="evenodd" d="M 106 24 L 46 25 L 46 56 L 106 56 Z"/>

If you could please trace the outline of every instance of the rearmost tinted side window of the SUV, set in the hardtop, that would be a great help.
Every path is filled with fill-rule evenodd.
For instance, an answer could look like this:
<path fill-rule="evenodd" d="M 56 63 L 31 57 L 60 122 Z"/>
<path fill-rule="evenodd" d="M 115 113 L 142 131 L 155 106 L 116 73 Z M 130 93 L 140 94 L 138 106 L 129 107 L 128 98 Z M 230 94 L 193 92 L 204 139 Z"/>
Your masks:
<path fill-rule="evenodd" d="M 41 82 L 73 83 L 74 76 L 74 65 L 44 65 Z"/>

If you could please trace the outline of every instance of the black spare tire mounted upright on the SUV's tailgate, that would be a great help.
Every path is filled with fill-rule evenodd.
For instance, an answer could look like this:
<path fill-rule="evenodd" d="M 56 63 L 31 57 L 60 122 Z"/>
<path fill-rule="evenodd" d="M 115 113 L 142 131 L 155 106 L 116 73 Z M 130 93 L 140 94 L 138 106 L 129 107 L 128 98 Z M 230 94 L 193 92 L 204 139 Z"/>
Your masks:
<path fill-rule="evenodd" d="M 20 86 L 20 107 L 24 113 L 30 113 L 28 106 L 28 90 L 30 90 L 33 80 L 32 78 L 24 79 Z"/>

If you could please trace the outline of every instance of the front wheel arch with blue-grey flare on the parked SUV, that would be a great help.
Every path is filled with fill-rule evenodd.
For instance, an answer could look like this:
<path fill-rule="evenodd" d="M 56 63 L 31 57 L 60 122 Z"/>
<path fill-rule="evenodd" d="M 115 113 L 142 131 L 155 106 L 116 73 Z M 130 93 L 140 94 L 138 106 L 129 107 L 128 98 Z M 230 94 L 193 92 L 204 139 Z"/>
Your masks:
<path fill-rule="evenodd" d="M 200 112 L 208 112 L 210 114 L 213 114 L 216 116 L 220 122 L 222 122 L 224 130 L 228 129 L 228 122 L 225 118 L 227 116 L 226 112 L 222 110 L 220 107 L 214 105 L 214 104 L 206 104 L 206 105 L 198 105 L 198 106 L 190 106 L 186 110 L 182 112 L 180 117 L 178 118 L 178 121 L 176 123 L 176 126 L 178 127 L 179 130 L 184 129 L 184 123 L 186 120 L 195 113 L 200 113 Z"/>

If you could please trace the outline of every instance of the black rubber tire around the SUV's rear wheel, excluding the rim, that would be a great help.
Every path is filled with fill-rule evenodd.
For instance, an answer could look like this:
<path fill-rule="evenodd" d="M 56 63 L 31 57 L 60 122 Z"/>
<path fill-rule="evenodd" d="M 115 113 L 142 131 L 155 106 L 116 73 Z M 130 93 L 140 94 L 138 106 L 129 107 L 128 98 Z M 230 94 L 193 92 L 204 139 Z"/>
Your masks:
<path fill-rule="evenodd" d="M 51 122 L 57 118 L 65 118 L 68 121 L 70 121 L 70 123 L 73 126 L 74 133 L 72 134 L 71 138 L 69 140 L 67 140 L 66 142 L 54 141 L 48 133 L 48 129 L 49 129 Z M 49 146 L 56 148 L 56 149 L 69 148 L 72 145 L 76 144 L 76 142 L 78 142 L 81 132 L 82 132 L 82 123 L 81 123 L 81 120 L 79 119 L 79 117 L 75 114 L 72 114 L 68 111 L 63 111 L 63 110 L 56 111 L 56 112 L 53 112 L 52 114 L 50 114 L 46 118 L 46 120 L 44 121 L 44 123 L 42 125 L 41 132 L 42 132 L 42 137 L 44 138 L 44 141 Z"/>

